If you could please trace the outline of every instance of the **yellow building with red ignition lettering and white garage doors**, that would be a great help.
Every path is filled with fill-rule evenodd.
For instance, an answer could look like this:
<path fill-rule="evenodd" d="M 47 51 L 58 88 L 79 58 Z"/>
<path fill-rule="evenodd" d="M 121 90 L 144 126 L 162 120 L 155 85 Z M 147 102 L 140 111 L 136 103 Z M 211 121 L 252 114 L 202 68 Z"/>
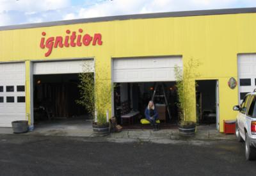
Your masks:
<path fill-rule="evenodd" d="M 70 85 L 77 83 L 84 61 L 91 65 L 88 72 L 104 70 L 100 79 L 118 83 L 111 115 L 127 103 L 125 113 L 143 116 L 159 83 L 171 114 L 163 110 L 164 120 L 175 123 L 173 68 L 193 58 L 200 61 L 194 119 L 197 110 L 198 123 L 216 123 L 223 132 L 223 120 L 236 118 L 232 107 L 256 85 L 255 21 L 256 8 L 240 8 L 0 27 L 0 126 L 25 118 L 33 125 L 40 108 L 54 116 L 83 114 L 70 103 L 77 97 Z"/>

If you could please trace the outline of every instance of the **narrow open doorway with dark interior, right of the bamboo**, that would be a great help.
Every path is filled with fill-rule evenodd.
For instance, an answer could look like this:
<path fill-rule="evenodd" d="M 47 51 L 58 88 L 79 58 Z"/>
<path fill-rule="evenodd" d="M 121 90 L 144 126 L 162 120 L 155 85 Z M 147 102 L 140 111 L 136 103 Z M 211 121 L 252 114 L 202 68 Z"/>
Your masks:
<path fill-rule="evenodd" d="M 218 80 L 196 81 L 196 117 L 198 124 L 219 124 Z"/>

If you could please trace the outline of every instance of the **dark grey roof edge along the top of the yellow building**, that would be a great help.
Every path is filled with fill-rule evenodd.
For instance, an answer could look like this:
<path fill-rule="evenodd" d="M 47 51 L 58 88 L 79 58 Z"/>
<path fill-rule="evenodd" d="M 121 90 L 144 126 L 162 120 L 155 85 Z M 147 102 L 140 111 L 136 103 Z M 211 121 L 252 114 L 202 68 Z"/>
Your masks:
<path fill-rule="evenodd" d="M 204 16 L 204 15 L 227 15 L 227 14 L 236 14 L 236 13 L 256 13 L 256 8 L 255 7 L 226 8 L 226 9 L 214 9 L 214 10 L 143 13 L 143 14 L 134 14 L 134 15 L 95 17 L 95 18 L 89 18 L 89 19 L 59 20 L 59 21 L 52 21 L 52 22 L 0 26 L 0 31 L 7 31 L 7 30 L 14 30 L 14 29 L 44 28 L 44 27 L 63 26 L 63 25 L 70 25 L 70 24 L 83 24 L 83 23 L 89 23 L 89 22 L 106 22 L 106 21 L 112 21 L 112 20 L 156 19 L 156 18 L 168 18 L 168 17 Z"/>

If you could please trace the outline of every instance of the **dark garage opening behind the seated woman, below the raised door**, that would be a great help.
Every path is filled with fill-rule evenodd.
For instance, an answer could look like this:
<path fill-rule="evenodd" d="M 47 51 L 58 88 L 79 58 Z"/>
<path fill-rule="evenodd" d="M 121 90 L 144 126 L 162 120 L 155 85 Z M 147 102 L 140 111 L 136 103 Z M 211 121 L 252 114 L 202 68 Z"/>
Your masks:
<path fill-rule="evenodd" d="M 156 92 L 154 93 L 154 91 Z M 162 129 L 176 128 L 178 119 L 175 82 L 116 83 L 114 113 L 124 129 L 140 129 L 149 100 L 154 100 Z M 131 115 L 129 117 L 129 114 Z M 127 118 L 128 117 L 128 118 Z M 143 129 L 150 128 L 144 125 Z"/>

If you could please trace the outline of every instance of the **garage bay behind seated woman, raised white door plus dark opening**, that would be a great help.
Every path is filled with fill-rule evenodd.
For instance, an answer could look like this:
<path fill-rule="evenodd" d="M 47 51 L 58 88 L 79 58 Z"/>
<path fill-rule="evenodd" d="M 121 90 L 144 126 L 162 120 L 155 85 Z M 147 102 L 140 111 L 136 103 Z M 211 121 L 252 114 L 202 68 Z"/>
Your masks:
<path fill-rule="evenodd" d="M 182 69 L 182 65 L 182 56 L 113 58 L 112 81 L 116 83 L 113 111 L 118 123 L 122 124 L 124 129 L 150 127 L 150 125 L 140 125 L 140 119 L 145 118 L 144 112 L 148 101 L 154 99 L 161 128 L 170 129 L 172 128 L 170 124 L 174 124 L 177 128 L 174 70 L 175 67 Z M 160 84 L 161 91 L 156 90 L 157 84 Z M 156 96 L 152 98 L 154 90 Z"/>

